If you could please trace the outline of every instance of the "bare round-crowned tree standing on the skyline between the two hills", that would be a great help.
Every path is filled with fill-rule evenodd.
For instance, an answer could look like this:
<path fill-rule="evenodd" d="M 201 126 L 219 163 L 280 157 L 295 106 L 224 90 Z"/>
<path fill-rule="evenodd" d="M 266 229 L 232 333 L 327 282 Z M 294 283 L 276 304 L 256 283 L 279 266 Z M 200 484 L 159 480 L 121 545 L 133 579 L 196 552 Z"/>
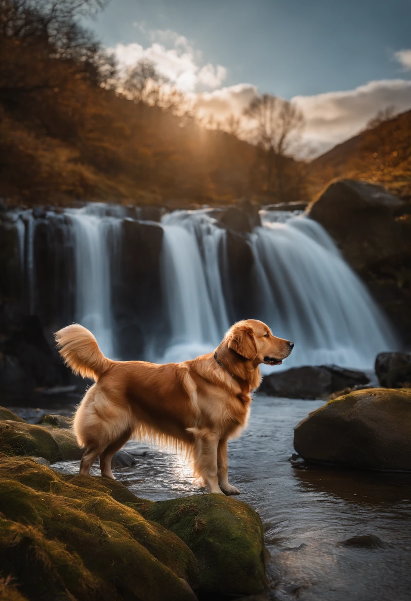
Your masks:
<path fill-rule="evenodd" d="M 281 200 L 289 157 L 303 127 L 303 115 L 293 102 L 263 94 L 244 111 L 251 124 L 252 138 L 264 150 L 264 191 Z"/>

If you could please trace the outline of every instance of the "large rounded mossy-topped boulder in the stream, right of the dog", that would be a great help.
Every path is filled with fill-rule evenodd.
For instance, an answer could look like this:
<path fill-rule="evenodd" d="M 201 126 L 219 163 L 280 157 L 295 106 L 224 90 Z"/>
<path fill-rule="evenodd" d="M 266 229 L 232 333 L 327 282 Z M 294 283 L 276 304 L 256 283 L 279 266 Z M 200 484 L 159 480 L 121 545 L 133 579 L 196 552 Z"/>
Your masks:
<path fill-rule="evenodd" d="M 309 413 L 294 429 L 305 460 L 382 471 L 411 471 L 411 390 L 351 392 Z"/>

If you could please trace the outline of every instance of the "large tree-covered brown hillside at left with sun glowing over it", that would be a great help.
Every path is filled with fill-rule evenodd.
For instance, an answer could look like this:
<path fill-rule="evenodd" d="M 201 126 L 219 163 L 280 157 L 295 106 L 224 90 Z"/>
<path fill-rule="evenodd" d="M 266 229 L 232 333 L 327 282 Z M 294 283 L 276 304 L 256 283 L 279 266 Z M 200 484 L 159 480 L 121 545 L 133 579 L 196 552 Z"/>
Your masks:
<path fill-rule="evenodd" d="M 187 206 L 303 194 L 303 165 L 293 159 L 282 159 L 287 184 L 277 198 L 264 189 L 262 148 L 199 126 L 181 99 L 124 96 L 114 57 L 78 25 L 79 7 L 93 0 L 49 4 L 0 5 L 0 197 L 8 203 Z"/>

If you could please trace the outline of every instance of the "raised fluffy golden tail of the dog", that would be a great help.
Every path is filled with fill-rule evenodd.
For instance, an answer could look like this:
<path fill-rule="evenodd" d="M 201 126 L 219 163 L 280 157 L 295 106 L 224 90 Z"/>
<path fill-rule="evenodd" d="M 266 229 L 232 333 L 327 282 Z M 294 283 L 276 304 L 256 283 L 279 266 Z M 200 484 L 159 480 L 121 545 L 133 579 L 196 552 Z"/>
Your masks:
<path fill-rule="evenodd" d="M 82 377 L 97 381 L 114 363 L 103 355 L 93 334 L 78 323 L 56 332 L 55 339 L 65 364 Z"/>

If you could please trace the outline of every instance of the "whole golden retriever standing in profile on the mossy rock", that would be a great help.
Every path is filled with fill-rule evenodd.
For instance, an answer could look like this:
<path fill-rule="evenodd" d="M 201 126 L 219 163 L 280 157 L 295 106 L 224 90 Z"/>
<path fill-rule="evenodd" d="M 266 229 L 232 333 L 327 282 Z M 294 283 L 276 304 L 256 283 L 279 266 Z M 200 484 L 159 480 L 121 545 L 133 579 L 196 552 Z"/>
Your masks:
<path fill-rule="evenodd" d="M 80 474 L 89 474 L 100 456 L 102 476 L 114 478 L 112 457 L 136 438 L 186 453 L 211 493 L 240 493 L 228 483 L 227 441 L 246 426 L 250 393 L 261 382 L 258 365 L 281 364 L 294 343 L 248 319 L 231 326 L 215 353 L 159 365 L 112 361 L 77 324 L 55 337 L 73 372 L 96 381 L 74 418 L 78 444 L 85 447 Z"/>

